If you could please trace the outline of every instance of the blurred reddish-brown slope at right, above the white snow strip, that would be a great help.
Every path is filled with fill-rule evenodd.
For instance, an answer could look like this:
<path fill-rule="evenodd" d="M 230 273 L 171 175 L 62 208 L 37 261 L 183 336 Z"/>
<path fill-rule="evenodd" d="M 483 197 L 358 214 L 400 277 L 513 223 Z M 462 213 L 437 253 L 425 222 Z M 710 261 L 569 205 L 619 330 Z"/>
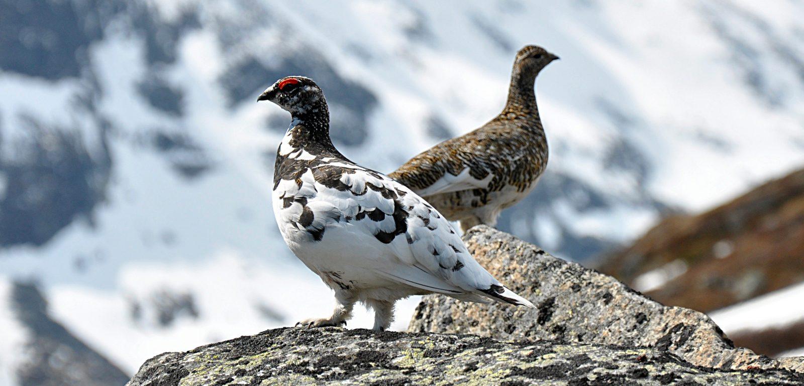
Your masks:
<path fill-rule="evenodd" d="M 699 311 L 802 282 L 804 170 L 705 213 L 669 217 L 600 270 L 659 302 Z"/>

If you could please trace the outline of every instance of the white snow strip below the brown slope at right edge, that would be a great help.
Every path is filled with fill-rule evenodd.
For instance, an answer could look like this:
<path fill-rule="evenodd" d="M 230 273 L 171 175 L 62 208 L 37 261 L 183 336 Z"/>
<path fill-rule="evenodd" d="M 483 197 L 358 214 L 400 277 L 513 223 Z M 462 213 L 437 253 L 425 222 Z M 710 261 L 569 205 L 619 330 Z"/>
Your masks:
<path fill-rule="evenodd" d="M 738 303 L 709 314 L 726 334 L 785 327 L 804 321 L 804 283 Z"/>

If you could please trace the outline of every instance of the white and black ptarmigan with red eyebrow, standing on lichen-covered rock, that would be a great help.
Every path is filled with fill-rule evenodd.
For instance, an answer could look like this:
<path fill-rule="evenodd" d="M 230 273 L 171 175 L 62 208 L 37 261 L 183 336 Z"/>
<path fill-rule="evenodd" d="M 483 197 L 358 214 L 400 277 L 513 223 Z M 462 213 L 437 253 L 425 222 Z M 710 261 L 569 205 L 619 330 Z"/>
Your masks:
<path fill-rule="evenodd" d="M 475 261 L 452 224 L 427 201 L 338 152 L 326 98 L 312 79 L 278 79 L 257 100 L 269 100 L 291 116 L 273 175 L 272 205 L 282 238 L 334 291 L 332 315 L 297 326 L 345 325 L 355 303 L 363 303 L 375 313 L 373 329 L 384 331 L 398 299 L 431 293 L 533 307 Z"/>

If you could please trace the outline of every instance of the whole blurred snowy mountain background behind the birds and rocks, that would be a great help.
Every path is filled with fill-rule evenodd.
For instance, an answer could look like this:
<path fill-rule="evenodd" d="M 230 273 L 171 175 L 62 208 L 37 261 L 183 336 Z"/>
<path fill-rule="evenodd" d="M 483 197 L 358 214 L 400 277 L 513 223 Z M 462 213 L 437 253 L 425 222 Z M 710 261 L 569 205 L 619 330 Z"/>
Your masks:
<path fill-rule="evenodd" d="M 497 114 L 528 43 L 561 57 L 550 164 L 499 227 L 804 354 L 802 2 L 0 0 L 0 385 L 325 315 L 269 202 L 289 115 L 256 95 L 310 76 L 388 173 Z"/>

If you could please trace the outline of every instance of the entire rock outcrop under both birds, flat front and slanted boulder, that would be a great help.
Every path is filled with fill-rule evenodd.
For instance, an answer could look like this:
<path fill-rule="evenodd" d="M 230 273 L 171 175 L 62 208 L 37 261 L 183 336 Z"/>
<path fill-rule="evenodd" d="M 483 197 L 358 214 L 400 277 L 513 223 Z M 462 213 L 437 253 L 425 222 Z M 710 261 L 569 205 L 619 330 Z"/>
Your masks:
<path fill-rule="evenodd" d="M 128 385 L 804 384 L 804 360 L 733 347 L 699 312 L 486 226 L 465 240 L 537 309 L 429 296 L 408 333 L 269 330 L 156 356 Z"/>

